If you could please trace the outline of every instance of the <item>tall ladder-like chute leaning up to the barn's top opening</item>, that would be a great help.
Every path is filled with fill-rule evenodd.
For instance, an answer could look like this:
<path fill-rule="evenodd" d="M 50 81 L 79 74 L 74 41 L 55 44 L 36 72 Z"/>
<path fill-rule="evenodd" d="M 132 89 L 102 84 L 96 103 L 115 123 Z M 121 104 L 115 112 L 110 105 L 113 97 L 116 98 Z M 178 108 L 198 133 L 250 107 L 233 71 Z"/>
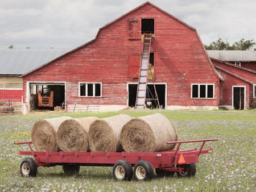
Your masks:
<path fill-rule="evenodd" d="M 152 40 L 151 34 L 144 34 L 135 108 L 144 108 L 145 101 L 146 101 L 147 72 L 148 72 L 149 61 L 150 61 L 151 40 Z M 150 72 L 151 72 L 151 69 L 150 69 Z M 155 90 L 156 99 L 158 101 L 158 107 L 159 107 L 159 100 L 158 100 L 158 95 L 156 93 L 155 84 L 154 84 L 154 90 Z"/>

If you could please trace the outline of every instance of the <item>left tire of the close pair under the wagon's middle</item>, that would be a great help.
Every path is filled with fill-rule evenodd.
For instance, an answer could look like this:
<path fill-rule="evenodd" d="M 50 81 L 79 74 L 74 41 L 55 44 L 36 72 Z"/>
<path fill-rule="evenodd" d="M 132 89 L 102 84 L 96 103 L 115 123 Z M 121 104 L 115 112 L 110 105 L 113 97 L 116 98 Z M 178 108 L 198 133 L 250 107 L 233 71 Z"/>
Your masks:
<path fill-rule="evenodd" d="M 113 167 L 113 176 L 117 181 L 130 181 L 133 178 L 133 167 L 126 160 L 119 160 Z"/>

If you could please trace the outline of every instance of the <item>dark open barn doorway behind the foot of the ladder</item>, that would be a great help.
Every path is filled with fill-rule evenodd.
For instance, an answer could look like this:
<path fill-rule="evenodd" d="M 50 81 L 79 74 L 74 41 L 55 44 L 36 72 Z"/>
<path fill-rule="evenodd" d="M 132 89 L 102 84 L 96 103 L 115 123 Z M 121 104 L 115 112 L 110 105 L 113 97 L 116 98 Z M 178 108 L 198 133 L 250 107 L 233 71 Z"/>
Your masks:
<path fill-rule="evenodd" d="M 128 84 L 128 106 L 129 107 L 135 107 L 136 103 L 136 97 L 137 97 L 137 87 L 138 84 Z M 156 92 L 158 93 L 158 99 L 159 99 L 159 105 L 160 108 L 165 109 L 166 108 L 166 84 L 155 84 Z M 154 85 L 153 84 L 147 84 L 147 90 L 146 90 L 146 99 L 152 98 L 151 93 L 155 97 L 155 91 L 154 91 Z M 151 103 L 145 102 L 145 105 L 147 108 L 156 108 L 157 104 L 154 101 L 150 101 Z"/>

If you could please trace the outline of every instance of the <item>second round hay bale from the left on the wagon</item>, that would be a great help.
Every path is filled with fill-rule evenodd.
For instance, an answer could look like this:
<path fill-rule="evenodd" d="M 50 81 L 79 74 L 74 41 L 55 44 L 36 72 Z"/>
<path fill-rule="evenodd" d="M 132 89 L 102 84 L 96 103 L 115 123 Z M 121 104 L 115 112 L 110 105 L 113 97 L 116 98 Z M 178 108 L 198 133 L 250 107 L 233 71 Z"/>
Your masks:
<path fill-rule="evenodd" d="M 96 116 L 68 119 L 57 131 L 57 145 L 65 152 L 86 152 L 89 149 L 88 131 Z"/>

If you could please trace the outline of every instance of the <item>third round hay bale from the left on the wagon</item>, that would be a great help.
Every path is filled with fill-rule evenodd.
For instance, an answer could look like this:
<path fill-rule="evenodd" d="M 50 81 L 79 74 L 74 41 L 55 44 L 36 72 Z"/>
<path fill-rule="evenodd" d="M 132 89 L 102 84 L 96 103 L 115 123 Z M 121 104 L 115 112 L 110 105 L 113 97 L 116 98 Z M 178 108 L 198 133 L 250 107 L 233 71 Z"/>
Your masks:
<path fill-rule="evenodd" d="M 89 145 L 91 151 L 120 152 L 120 132 L 122 127 L 131 120 L 129 115 L 116 115 L 95 120 L 89 128 Z"/>

